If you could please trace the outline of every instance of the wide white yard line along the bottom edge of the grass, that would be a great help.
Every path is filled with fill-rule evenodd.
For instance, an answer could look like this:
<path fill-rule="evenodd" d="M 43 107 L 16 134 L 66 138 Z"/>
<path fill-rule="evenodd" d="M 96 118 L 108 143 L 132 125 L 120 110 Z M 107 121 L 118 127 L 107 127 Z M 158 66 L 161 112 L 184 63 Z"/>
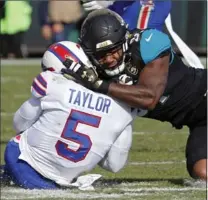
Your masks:
<path fill-rule="evenodd" d="M 74 192 L 73 190 L 24 190 L 20 188 L 4 187 L 1 190 L 1 199 L 34 199 L 34 198 L 64 198 L 64 199 L 128 199 L 129 197 L 147 196 L 153 193 L 170 193 L 170 192 L 188 192 L 188 191 L 206 191 L 206 188 L 193 188 L 193 187 L 143 187 L 131 189 L 119 188 L 121 193 L 114 193 L 115 188 L 107 190 L 108 193 L 96 193 L 96 190 L 91 192 Z M 112 191 L 112 193 L 110 193 Z"/>

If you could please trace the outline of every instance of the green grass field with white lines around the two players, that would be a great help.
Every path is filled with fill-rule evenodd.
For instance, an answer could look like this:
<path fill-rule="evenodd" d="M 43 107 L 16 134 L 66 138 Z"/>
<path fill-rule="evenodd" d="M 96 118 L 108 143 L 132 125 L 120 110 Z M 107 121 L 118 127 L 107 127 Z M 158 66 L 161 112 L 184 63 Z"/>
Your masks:
<path fill-rule="evenodd" d="M 30 96 L 30 85 L 39 72 L 39 66 L 1 67 L 1 164 L 5 145 L 15 134 L 13 113 Z M 93 170 L 103 175 L 95 191 L 29 191 L 9 186 L 1 188 L 1 199 L 205 200 L 205 185 L 191 185 L 186 171 L 187 137 L 187 128 L 177 131 L 168 123 L 138 118 L 128 165 L 117 174 Z"/>

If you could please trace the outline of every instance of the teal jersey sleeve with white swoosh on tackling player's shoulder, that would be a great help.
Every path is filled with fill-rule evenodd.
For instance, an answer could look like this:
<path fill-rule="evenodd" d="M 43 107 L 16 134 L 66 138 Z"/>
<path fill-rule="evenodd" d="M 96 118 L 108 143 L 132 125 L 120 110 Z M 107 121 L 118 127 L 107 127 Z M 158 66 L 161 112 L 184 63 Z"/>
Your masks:
<path fill-rule="evenodd" d="M 171 48 L 167 34 L 156 29 L 148 29 L 142 33 L 140 53 L 145 64 L 155 60 L 162 52 Z"/>

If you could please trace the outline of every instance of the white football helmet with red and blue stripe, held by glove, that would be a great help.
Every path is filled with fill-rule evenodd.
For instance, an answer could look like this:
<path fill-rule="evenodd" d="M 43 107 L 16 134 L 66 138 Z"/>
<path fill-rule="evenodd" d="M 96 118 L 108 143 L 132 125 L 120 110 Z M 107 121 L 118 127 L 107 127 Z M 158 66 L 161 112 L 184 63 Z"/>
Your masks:
<path fill-rule="evenodd" d="M 63 62 L 67 58 L 74 62 L 81 62 L 86 66 L 91 66 L 91 62 L 79 44 L 61 41 L 52 44 L 44 53 L 41 61 L 42 70 L 61 73 L 61 69 L 66 68 Z"/>

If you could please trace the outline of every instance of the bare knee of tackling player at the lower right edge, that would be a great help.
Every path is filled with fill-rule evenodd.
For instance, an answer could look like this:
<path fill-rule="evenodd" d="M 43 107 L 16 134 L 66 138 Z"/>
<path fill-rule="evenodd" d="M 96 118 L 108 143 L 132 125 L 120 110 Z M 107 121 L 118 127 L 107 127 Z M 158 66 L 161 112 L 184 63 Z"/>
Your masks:
<path fill-rule="evenodd" d="M 201 159 L 193 165 L 191 176 L 195 179 L 208 180 L 207 159 Z"/>

